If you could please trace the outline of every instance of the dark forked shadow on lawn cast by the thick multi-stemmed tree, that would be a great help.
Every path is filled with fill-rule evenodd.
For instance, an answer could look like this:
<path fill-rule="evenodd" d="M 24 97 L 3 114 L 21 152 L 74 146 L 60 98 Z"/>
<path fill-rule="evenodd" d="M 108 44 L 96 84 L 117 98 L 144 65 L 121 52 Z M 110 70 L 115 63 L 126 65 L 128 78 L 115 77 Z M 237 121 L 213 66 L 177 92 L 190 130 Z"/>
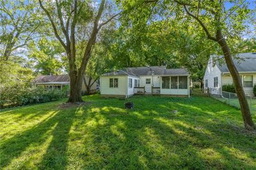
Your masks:
<path fill-rule="evenodd" d="M 65 152 L 67 150 L 68 132 L 75 114 L 76 109 L 56 110 L 35 127 L 4 141 L 1 144 L 1 167 L 8 166 L 13 159 L 20 157 L 29 146 L 40 147 L 51 135 L 51 144 L 40 167 L 44 169 L 45 167 L 65 166 L 67 162 Z"/>

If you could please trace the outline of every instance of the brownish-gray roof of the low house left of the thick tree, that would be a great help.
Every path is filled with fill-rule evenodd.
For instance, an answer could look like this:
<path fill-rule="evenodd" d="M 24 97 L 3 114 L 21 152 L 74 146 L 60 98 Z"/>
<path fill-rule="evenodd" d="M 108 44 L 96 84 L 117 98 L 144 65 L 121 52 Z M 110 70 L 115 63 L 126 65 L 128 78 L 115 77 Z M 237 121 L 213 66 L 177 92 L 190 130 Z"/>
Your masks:
<path fill-rule="evenodd" d="M 69 75 L 39 75 L 33 82 L 69 82 Z"/>

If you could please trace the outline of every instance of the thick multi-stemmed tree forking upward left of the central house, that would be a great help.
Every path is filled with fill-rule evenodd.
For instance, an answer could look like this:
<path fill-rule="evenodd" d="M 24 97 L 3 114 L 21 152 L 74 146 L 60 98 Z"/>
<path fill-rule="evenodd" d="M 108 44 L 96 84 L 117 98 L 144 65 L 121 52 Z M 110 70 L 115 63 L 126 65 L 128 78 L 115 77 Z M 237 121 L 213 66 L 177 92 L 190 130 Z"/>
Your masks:
<path fill-rule="evenodd" d="M 56 0 L 54 4 L 51 2 L 43 4 L 39 0 L 39 3 L 51 22 L 54 35 L 67 53 L 70 76 L 70 97 L 68 102 L 82 102 L 83 75 L 91 57 L 97 34 L 101 27 L 108 24 L 117 14 L 106 14 L 106 16 L 109 16 L 108 19 L 102 19 L 102 13 L 106 6 L 105 0 L 101 1 L 97 12 L 95 12 L 95 8 L 89 1 Z M 94 6 L 95 4 L 97 3 L 94 3 Z M 77 61 L 77 42 L 86 42 L 84 48 L 80 49 L 83 51 L 83 55 L 80 56 L 81 62 Z"/>

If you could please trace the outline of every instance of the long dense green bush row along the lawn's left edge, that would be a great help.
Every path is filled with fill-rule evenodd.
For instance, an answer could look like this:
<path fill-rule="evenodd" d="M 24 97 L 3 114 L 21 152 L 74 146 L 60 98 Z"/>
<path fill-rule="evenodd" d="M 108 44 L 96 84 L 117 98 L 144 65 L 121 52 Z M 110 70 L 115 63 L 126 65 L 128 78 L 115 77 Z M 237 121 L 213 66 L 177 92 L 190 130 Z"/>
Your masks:
<path fill-rule="evenodd" d="M 50 102 L 66 97 L 66 91 L 60 89 L 29 88 L 24 84 L 1 87 L 0 108 L 18 105 Z"/>

